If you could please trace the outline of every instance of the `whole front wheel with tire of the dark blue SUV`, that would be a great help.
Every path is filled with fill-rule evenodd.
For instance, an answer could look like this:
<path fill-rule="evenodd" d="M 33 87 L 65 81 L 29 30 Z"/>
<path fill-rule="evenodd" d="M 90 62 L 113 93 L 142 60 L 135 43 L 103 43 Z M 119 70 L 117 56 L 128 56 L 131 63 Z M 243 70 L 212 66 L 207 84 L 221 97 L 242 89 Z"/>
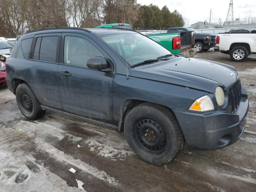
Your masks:
<path fill-rule="evenodd" d="M 174 114 L 152 103 L 142 103 L 130 110 L 124 120 L 124 134 L 134 153 L 155 165 L 173 160 L 184 144 Z"/>

